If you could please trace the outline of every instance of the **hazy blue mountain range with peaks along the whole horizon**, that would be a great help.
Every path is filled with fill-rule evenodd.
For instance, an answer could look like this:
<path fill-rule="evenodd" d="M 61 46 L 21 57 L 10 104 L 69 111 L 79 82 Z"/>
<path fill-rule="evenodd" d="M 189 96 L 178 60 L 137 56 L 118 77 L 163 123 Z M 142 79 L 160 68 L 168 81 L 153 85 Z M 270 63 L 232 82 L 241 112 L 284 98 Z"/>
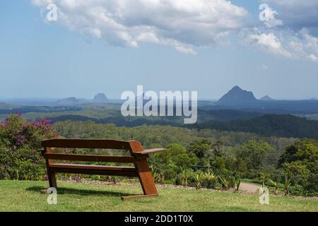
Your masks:
<path fill-rule="evenodd" d="M 148 99 L 144 95 L 136 97 L 136 100 Z M 104 105 L 115 104 L 120 105 L 125 100 L 108 99 L 104 93 L 96 94 L 93 99 L 80 99 L 76 97 L 67 97 L 55 102 L 23 102 L 25 106 L 59 106 L 59 105 Z M 147 101 L 143 102 L 144 104 Z M 11 103 L 6 104 L 0 102 L 0 109 L 9 109 Z M 199 108 L 205 109 L 237 109 L 247 110 L 250 112 L 260 112 L 263 114 L 317 114 L 318 113 L 318 100 L 273 100 L 268 95 L 261 97 L 259 100 L 254 96 L 251 91 L 243 90 L 235 85 L 218 101 L 204 101 L 199 100 Z M 11 107 L 13 108 L 13 107 Z M 17 108 L 17 107 L 15 107 Z"/>

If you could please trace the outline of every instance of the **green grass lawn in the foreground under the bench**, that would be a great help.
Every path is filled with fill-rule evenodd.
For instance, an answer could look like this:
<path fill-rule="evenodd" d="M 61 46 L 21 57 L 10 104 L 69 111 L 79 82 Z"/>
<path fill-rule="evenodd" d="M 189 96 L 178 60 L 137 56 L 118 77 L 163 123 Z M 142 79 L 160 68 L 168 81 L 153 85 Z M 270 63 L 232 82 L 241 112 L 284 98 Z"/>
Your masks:
<path fill-rule="evenodd" d="M 47 182 L 0 181 L 0 211 L 317 211 L 318 201 L 209 190 L 159 188 L 160 196 L 122 201 L 142 194 L 139 186 L 58 182 L 57 205 L 47 204 Z"/>

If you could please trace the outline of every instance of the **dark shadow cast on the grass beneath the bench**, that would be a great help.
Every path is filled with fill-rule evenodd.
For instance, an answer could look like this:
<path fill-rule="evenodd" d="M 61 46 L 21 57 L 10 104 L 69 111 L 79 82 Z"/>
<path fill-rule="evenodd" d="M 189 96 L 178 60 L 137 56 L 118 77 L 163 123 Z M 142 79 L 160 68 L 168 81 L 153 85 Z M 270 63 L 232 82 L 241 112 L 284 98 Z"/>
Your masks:
<path fill-rule="evenodd" d="M 44 188 L 42 186 L 31 186 L 25 190 L 41 193 L 43 189 L 47 189 L 47 188 Z M 97 191 L 97 190 L 69 189 L 69 188 L 57 188 L 57 193 L 58 194 L 76 194 L 81 196 L 95 195 L 95 196 L 116 196 L 116 197 L 136 195 L 136 194 L 127 194 L 123 192 L 114 192 L 114 191 Z"/>

